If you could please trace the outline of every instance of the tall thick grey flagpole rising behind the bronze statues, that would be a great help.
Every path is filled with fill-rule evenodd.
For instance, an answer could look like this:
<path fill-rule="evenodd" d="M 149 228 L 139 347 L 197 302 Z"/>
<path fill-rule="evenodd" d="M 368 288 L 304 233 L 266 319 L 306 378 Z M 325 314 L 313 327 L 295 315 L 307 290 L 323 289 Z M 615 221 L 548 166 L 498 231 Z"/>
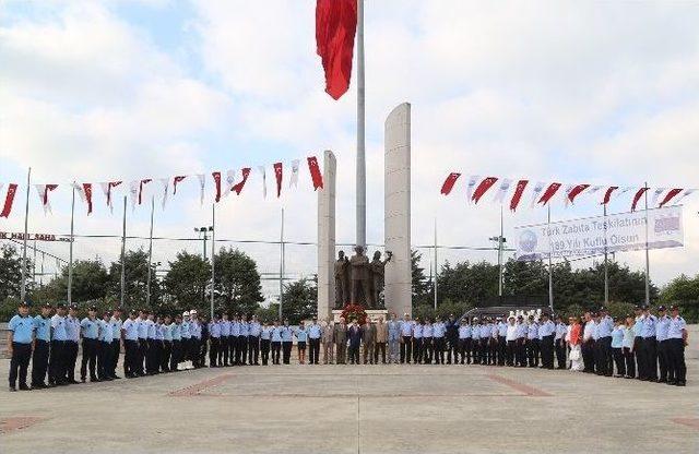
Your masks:
<path fill-rule="evenodd" d="M 357 0 L 357 246 L 367 243 L 367 166 L 365 158 L 364 0 Z"/>

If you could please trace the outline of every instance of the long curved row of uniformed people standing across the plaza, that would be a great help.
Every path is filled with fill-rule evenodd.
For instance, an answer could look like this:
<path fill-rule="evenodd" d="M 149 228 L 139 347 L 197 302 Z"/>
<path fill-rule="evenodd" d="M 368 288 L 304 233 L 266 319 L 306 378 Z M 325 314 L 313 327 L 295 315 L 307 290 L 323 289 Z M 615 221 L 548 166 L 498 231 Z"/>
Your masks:
<path fill-rule="evenodd" d="M 55 313 L 52 313 L 55 311 Z M 44 304 L 29 316 L 26 303 L 9 323 L 10 391 L 44 389 L 183 370 L 191 361 L 202 367 L 291 363 L 294 342 L 301 365 L 483 365 L 570 369 L 599 375 L 656 381 L 684 386 L 687 328 L 676 307 L 637 307 L 636 315 L 613 320 L 605 308 L 583 318 L 548 313 L 442 321 L 379 318 L 358 324 L 329 319 L 289 326 L 260 322 L 257 316 L 216 314 L 208 321 L 196 310 L 158 315 L 120 308 L 97 316 L 78 316 L 75 306 Z M 80 382 L 75 380 L 82 344 Z M 308 356 L 306 355 L 308 353 Z M 206 365 L 206 359 L 209 362 Z M 32 362 L 31 386 L 27 384 Z M 660 373 L 659 373 L 660 371 Z M 47 381 L 48 378 L 48 381 Z"/>

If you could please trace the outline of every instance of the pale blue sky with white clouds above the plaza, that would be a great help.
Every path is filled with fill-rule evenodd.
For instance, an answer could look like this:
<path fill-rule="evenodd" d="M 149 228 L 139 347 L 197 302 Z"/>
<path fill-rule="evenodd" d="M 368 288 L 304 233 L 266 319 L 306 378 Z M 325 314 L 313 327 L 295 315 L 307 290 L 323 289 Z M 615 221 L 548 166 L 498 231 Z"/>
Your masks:
<path fill-rule="evenodd" d="M 697 188 L 699 180 L 699 3 L 477 2 L 368 0 L 367 241 L 383 240 L 383 124 L 412 104 L 412 242 L 488 247 L 500 206 L 465 203 L 463 180 L 439 195 L 450 171 L 592 184 Z M 332 150 L 337 157 L 337 241 L 354 241 L 356 85 L 335 101 L 323 91 L 312 0 L 71 0 L 0 3 L 0 182 L 59 183 L 45 215 L 29 194 L 29 232 L 70 231 L 72 181 L 130 181 L 211 174 Z M 462 177 L 462 179 L 465 177 Z M 7 188 L 7 187 L 5 187 Z M 157 187 L 154 187 L 157 189 Z M 301 167 L 299 186 L 262 196 L 253 174 L 241 196 L 216 206 L 216 237 L 276 241 L 281 212 L 288 241 L 316 241 L 317 193 Z M 154 235 L 196 239 L 211 224 L 190 177 Z M 76 235 L 121 235 L 95 191 L 95 212 L 75 212 Z M 155 191 L 157 192 L 157 191 Z M 4 194 L 4 191 L 2 191 Z M 147 196 L 146 196 L 147 200 Z M 22 231 L 20 193 L 0 231 Z M 699 271 L 699 194 L 684 200 L 685 247 L 652 251 L 651 278 L 663 285 Z M 156 203 L 157 206 L 157 203 Z M 628 211 L 629 196 L 613 213 Z M 601 214 L 583 195 L 557 201 L 552 218 Z M 147 203 L 127 210 L 128 234 L 149 235 Z M 503 215 L 516 226 L 546 211 Z M 274 298 L 279 246 L 237 244 L 263 273 Z M 39 243 L 68 259 L 66 243 Z M 130 240 L 129 248 L 145 247 Z M 78 259 L 106 263 L 119 239 L 79 238 Z M 161 240 L 154 261 L 200 252 L 200 241 Z M 371 249 L 371 248 L 370 248 Z M 350 248 L 345 248 L 346 251 Z M 434 258 L 424 253 L 429 273 Z M 371 252 L 371 251 L 370 251 Z M 316 272 L 312 246 L 287 246 L 289 278 Z M 508 255 L 509 256 L 509 255 Z M 442 249 L 437 262 L 496 261 L 495 251 Z M 616 259 L 643 270 L 642 252 Z M 592 261 L 578 262 L 588 266 Z M 47 260 L 45 272 L 51 273 Z M 45 277 L 45 278 L 48 278 Z"/>

